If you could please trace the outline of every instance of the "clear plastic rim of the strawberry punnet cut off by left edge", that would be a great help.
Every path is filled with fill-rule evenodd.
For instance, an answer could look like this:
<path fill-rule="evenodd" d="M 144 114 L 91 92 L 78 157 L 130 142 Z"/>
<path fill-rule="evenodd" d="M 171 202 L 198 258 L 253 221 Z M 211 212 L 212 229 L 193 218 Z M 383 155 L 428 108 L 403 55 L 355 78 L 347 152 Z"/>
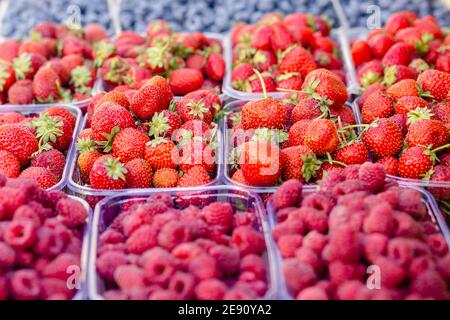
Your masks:
<path fill-rule="evenodd" d="M 78 135 L 82 122 L 82 115 L 80 109 L 70 104 L 4 105 L 0 106 L 0 113 L 19 112 L 23 115 L 31 115 L 31 114 L 39 114 L 49 107 L 63 107 L 69 110 L 70 113 L 72 113 L 76 118 L 75 128 L 72 133 L 72 142 L 70 143 L 69 149 L 67 149 L 66 164 L 64 166 L 64 171 L 61 180 L 59 180 L 59 182 L 55 184 L 53 187 L 48 189 L 48 190 L 55 190 L 55 189 L 62 190 L 67 184 L 70 166 L 71 163 L 73 162 L 73 156 L 76 151 L 75 148 L 76 137 Z"/>

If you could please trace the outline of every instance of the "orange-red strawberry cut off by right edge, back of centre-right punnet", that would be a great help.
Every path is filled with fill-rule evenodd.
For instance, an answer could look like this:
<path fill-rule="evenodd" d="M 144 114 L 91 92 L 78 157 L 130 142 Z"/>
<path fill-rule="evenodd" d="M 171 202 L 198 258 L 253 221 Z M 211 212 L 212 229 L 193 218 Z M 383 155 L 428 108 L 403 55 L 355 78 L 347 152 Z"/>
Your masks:
<path fill-rule="evenodd" d="M 433 99 L 444 100 L 450 91 L 450 74 L 439 70 L 427 70 L 419 75 L 417 84 L 429 92 Z"/>

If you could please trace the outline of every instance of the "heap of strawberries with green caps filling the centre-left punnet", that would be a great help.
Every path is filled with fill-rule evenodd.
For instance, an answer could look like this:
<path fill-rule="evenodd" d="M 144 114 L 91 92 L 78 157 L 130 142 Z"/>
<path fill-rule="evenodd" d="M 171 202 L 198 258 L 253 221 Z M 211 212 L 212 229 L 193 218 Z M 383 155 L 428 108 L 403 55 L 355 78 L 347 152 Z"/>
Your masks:
<path fill-rule="evenodd" d="M 179 100 L 154 76 L 139 90 L 96 95 L 77 140 L 81 183 L 95 189 L 193 187 L 216 171 L 221 101 L 212 89 Z"/>

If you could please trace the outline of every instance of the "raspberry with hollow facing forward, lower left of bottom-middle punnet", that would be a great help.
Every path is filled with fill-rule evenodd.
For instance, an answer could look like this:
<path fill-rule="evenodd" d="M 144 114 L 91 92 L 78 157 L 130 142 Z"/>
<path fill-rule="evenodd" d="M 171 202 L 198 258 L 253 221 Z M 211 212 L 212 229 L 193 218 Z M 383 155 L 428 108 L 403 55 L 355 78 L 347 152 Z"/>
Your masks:
<path fill-rule="evenodd" d="M 175 272 L 173 257 L 161 248 L 150 249 L 140 257 L 145 279 L 151 284 L 167 285 Z"/>

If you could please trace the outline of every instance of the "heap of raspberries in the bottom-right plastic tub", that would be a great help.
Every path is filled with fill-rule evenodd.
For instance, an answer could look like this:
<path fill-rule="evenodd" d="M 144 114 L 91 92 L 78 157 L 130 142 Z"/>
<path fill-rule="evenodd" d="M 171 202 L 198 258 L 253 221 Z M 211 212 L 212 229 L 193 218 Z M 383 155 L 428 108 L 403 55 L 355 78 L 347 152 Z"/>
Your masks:
<path fill-rule="evenodd" d="M 419 191 L 379 164 L 331 171 L 319 191 L 297 180 L 272 197 L 273 238 L 300 300 L 449 299 L 450 253 Z"/>

